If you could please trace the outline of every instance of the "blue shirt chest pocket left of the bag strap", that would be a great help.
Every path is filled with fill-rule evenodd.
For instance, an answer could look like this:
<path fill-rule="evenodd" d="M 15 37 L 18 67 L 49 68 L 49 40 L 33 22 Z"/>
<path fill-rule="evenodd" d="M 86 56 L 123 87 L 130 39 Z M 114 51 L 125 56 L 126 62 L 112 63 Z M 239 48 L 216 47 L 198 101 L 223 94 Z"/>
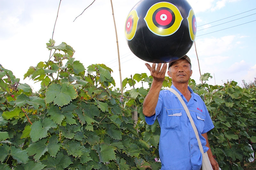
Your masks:
<path fill-rule="evenodd" d="M 180 117 L 181 117 L 181 110 L 173 110 L 173 109 L 167 109 L 167 116 L 166 116 L 166 126 L 165 129 L 169 130 L 178 130 L 180 131 Z"/>

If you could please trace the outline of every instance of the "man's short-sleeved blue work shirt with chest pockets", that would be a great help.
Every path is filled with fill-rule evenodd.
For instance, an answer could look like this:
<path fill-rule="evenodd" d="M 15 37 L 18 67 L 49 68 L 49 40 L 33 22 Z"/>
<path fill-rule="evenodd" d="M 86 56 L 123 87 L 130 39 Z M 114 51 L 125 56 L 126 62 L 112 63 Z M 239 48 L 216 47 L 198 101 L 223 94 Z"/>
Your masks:
<path fill-rule="evenodd" d="M 204 152 L 206 140 L 201 135 L 214 128 L 209 112 L 200 96 L 192 91 L 189 101 L 173 85 L 185 104 L 196 125 Z M 156 106 L 156 114 L 145 117 L 146 122 L 152 125 L 158 120 L 161 127 L 159 140 L 159 155 L 162 164 L 161 170 L 199 170 L 202 165 L 202 154 L 199 150 L 195 132 L 191 126 L 185 109 L 177 96 L 169 90 L 161 90 Z"/>

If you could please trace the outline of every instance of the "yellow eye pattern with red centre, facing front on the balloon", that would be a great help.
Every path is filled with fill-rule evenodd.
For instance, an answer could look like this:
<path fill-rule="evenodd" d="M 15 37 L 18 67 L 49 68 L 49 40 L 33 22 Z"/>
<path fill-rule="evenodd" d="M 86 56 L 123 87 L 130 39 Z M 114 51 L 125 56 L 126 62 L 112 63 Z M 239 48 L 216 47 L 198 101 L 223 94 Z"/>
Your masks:
<path fill-rule="evenodd" d="M 175 5 L 169 2 L 159 2 L 148 9 L 144 20 L 152 33 L 169 36 L 180 28 L 183 18 Z"/>

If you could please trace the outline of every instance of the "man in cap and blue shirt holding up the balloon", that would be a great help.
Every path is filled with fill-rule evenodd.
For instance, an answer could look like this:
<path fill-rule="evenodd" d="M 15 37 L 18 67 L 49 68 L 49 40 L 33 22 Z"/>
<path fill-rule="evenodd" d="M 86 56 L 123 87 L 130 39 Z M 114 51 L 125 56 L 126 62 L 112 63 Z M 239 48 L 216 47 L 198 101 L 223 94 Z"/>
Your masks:
<path fill-rule="evenodd" d="M 169 90 L 161 90 L 165 78 L 167 64 L 161 63 L 150 70 L 153 82 L 143 103 L 143 114 L 146 122 L 152 125 L 156 118 L 161 127 L 159 155 L 161 170 L 199 170 L 202 165 L 202 154 L 186 111 L 179 99 Z M 219 170 L 219 165 L 212 156 L 207 132 L 214 128 L 204 101 L 188 87 L 192 75 L 191 62 L 187 55 L 169 63 L 168 76 L 172 78 L 172 86 L 184 102 L 193 118 L 199 133 L 204 152 L 207 151 L 212 168 Z"/>

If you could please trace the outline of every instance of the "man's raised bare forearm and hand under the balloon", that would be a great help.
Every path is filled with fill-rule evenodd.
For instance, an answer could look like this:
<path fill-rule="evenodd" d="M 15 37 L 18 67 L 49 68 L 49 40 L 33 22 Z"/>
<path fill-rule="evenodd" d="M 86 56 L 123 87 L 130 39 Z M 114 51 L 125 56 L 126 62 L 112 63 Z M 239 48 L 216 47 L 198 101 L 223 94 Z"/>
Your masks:
<path fill-rule="evenodd" d="M 158 101 L 161 87 L 164 82 L 167 64 L 164 63 L 162 69 L 161 65 L 162 64 L 159 63 L 156 67 L 156 63 L 153 63 L 151 67 L 148 63 L 146 63 L 146 66 L 148 67 L 148 70 L 150 71 L 150 74 L 153 77 L 152 85 L 143 102 L 143 114 L 148 117 L 154 115 L 156 112 L 156 104 Z"/>

